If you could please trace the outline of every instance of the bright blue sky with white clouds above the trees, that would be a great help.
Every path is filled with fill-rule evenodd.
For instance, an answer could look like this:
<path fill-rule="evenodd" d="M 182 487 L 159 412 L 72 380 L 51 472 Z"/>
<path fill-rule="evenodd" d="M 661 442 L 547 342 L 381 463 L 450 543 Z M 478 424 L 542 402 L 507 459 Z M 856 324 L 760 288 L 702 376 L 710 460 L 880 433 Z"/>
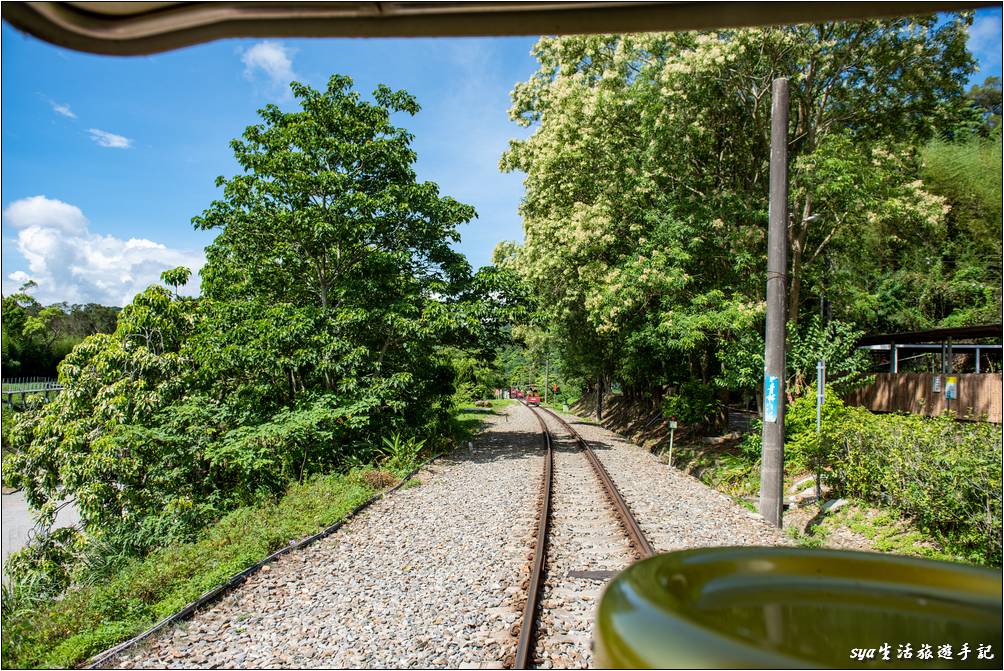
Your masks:
<path fill-rule="evenodd" d="M 974 81 L 1001 72 L 1000 8 L 980 10 Z M 31 277 L 43 303 L 123 304 L 166 267 L 198 267 L 212 233 L 191 219 L 237 172 L 229 141 L 266 102 L 292 108 L 287 83 L 333 72 L 368 93 L 406 88 L 423 106 L 422 180 L 475 206 L 459 248 L 474 267 L 522 239 L 522 176 L 498 159 L 527 131 L 509 91 L 535 69 L 535 38 L 225 40 L 146 57 L 77 53 L 2 27 L 3 291 Z M 194 288 L 194 287 L 193 287 Z"/>

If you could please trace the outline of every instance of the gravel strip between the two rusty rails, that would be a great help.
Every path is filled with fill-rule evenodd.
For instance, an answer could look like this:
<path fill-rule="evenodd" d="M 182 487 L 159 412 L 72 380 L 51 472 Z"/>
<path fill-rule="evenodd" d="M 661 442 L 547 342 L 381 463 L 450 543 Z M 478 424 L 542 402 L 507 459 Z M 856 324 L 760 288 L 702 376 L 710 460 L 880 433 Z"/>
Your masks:
<path fill-rule="evenodd" d="M 569 572 L 620 571 L 635 555 L 585 455 L 553 418 L 541 415 L 554 438 L 554 481 L 534 664 L 584 669 L 592 661 L 593 615 L 605 581 Z"/>

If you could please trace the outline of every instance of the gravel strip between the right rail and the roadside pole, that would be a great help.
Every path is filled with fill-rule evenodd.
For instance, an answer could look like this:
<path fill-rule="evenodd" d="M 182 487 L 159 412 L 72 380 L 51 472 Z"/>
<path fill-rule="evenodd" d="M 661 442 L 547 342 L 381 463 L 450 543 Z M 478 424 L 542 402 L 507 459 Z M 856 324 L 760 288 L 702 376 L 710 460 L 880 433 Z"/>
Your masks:
<path fill-rule="evenodd" d="M 559 413 L 606 467 L 657 551 L 714 545 L 786 545 L 757 513 L 601 426 Z"/>

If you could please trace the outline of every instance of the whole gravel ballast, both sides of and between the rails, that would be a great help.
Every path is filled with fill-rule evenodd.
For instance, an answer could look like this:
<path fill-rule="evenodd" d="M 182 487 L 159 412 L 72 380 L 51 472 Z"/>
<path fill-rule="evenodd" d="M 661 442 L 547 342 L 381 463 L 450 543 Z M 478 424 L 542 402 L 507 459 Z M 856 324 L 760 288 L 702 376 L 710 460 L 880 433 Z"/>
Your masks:
<path fill-rule="evenodd" d="M 543 468 L 531 411 L 486 414 L 474 441 L 330 536 L 285 554 L 121 668 L 502 668 L 512 660 Z M 602 427 L 567 417 L 660 551 L 784 544 L 753 512 Z M 546 418 L 545 418 L 546 419 Z M 585 668 L 605 581 L 635 555 L 585 457 L 553 419 L 551 539 L 535 663 Z"/>

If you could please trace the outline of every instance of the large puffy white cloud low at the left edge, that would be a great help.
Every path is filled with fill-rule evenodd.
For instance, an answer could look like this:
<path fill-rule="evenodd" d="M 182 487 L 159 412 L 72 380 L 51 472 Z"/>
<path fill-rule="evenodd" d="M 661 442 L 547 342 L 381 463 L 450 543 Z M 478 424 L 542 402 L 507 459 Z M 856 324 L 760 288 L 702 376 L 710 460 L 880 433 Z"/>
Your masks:
<path fill-rule="evenodd" d="M 197 273 L 205 261 L 201 252 L 93 233 L 79 208 L 45 196 L 11 203 L 3 222 L 17 230 L 14 244 L 28 263 L 27 272 L 7 275 L 4 293 L 33 279 L 38 288 L 32 293 L 42 303 L 124 305 L 150 284 L 160 283 L 163 271 L 185 265 Z M 198 284 L 194 274 L 183 292 L 197 294 Z"/>

